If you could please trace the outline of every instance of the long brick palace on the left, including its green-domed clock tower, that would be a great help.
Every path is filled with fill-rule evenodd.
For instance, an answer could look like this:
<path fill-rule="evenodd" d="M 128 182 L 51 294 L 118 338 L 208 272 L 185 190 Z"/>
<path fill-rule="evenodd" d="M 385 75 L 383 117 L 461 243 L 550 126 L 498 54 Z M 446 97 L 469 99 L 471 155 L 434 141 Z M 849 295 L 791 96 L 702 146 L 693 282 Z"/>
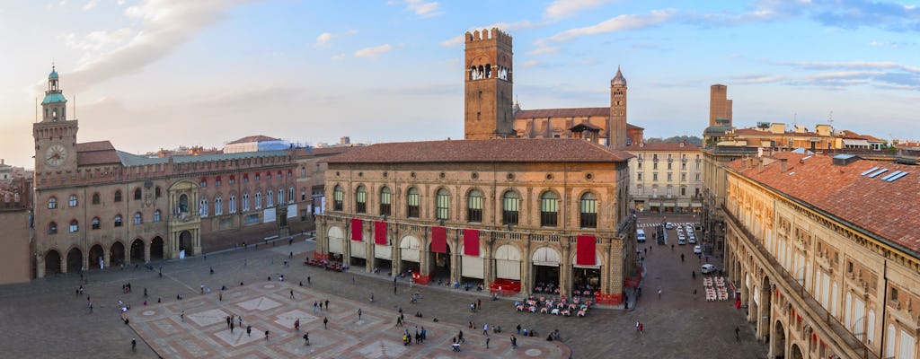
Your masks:
<path fill-rule="evenodd" d="M 199 255 L 312 229 L 301 209 L 312 205 L 313 182 L 299 179 L 313 165 L 309 151 L 149 158 L 107 140 L 78 143 L 58 82 L 52 71 L 42 120 L 33 125 L 36 276 Z"/>

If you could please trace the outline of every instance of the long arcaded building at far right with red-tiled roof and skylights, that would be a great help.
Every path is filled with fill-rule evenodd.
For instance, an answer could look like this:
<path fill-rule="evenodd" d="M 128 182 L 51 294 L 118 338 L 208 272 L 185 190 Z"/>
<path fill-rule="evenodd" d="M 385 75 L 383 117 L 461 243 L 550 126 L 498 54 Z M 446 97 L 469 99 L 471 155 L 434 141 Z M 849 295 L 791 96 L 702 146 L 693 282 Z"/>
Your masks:
<path fill-rule="evenodd" d="M 784 152 L 726 170 L 725 271 L 768 357 L 917 357 L 917 167 Z"/>

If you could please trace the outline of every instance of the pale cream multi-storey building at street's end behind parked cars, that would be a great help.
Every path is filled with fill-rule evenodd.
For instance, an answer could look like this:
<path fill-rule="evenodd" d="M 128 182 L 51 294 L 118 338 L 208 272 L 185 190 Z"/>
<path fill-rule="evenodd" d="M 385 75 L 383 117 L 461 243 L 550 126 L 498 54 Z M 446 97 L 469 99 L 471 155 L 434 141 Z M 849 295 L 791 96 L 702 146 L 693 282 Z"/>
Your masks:
<path fill-rule="evenodd" d="M 703 208 L 703 152 L 679 143 L 638 143 L 629 159 L 632 208 L 651 213 L 695 213 Z"/>

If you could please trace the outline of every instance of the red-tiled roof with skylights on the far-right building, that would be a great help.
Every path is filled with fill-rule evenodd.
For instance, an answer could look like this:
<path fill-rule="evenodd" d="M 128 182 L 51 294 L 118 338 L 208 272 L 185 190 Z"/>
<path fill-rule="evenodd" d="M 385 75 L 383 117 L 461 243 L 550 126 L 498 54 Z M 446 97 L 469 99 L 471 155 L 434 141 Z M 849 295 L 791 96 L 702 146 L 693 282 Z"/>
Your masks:
<path fill-rule="evenodd" d="M 815 155 L 806 159 L 803 154 L 789 152 L 777 153 L 774 158 L 788 160 L 786 172 L 780 173 L 778 162 L 765 164 L 763 172 L 757 165 L 745 168 L 743 159 L 729 163 L 729 167 L 778 192 L 920 252 L 920 167 L 868 160 L 839 166 L 828 156 Z M 860 175 L 877 166 L 887 168 L 888 172 L 875 178 Z M 895 171 L 908 174 L 894 182 L 881 180 Z"/>

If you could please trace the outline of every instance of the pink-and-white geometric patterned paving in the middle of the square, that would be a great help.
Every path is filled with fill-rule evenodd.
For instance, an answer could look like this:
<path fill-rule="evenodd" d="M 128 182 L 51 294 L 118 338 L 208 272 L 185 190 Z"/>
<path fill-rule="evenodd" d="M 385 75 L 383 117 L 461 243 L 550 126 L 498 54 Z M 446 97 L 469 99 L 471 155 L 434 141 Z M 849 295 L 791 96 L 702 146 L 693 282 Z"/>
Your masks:
<path fill-rule="evenodd" d="M 291 291 L 293 290 L 293 299 Z M 329 307 L 314 312 L 314 302 L 329 300 Z M 358 319 L 358 309 L 362 318 Z M 185 312 L 184 319 L 181 315 Z M 512 350 L 510 334 L 492 334 L 489 349 L 481 331 L 406 317 L 406 327 L 395 327 L 398 313 L 376 306 L 315 292 L 285 282 L 237 286 L 218 293 L 188 297 L 166 304 L 129 311 L 125 315 L 154 351 L 165 358 L 568 358 L 561 342 L 518 338 Z M 243 327 L 233 332 L 226 317 L 243 317 Z M 328 319 L 328 329 L 323 319 Z M 293 329 L 300 320 L 300 331 Z M 251 326 L 247 334 L 246 327 Z M 402 334 L 415 328 L 427 331 L 421 344 L 404 346 Z M 266 340 L 265 332 L 269 332 Z M 452 339 L 465 331 L 461 353 L 451 348 Z M 310 345 L 303 335 L 309 333 Z"/>

